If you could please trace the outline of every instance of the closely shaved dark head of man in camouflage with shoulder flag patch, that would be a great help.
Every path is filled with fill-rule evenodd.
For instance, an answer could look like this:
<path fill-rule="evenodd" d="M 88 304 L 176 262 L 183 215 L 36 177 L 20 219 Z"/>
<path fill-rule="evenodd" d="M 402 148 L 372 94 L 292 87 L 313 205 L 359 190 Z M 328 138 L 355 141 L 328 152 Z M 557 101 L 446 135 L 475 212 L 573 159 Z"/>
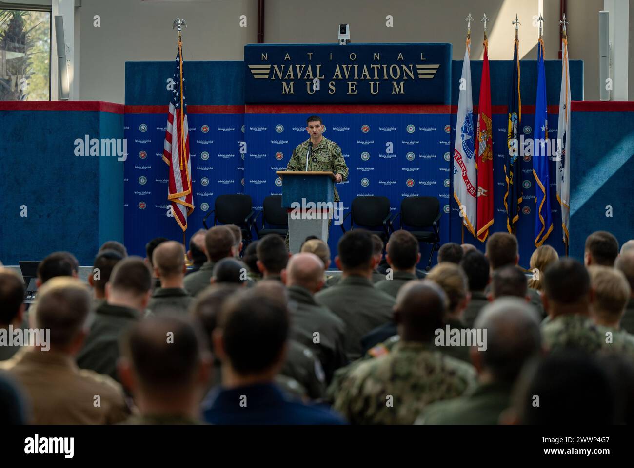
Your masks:
<path fill-rule="evenodd" d="M 448 299 L 443 289 L 428 280 L 412 280 L 399 289 L 394 320 L 399 335 L 407 341 L 429 342 L 436 329 L 443 327 Z"/>

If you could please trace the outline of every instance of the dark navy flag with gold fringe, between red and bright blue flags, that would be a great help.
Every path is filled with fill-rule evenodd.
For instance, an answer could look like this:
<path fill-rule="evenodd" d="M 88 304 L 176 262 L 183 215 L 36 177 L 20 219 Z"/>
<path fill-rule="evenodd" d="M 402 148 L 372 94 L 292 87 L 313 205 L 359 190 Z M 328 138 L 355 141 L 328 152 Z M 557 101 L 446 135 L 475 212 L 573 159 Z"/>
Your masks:
<path fill-rule="evenodd" d="M 511 70 L 511 87 L 507 107 L 507 147 L 508 154 L 504 163 L 504 175 L 507 182 L 507 193 L 504 194 L 504 208 L 507 210 L 507 229 L 514 233 L 514 224 L 519 219 L 519 205 L 522 203 L 522 169 L 519 154 L 518 130 L 522 125 L 522 98 L 519 92 L 519 39 L 515 30 L 513 65 Z"/>

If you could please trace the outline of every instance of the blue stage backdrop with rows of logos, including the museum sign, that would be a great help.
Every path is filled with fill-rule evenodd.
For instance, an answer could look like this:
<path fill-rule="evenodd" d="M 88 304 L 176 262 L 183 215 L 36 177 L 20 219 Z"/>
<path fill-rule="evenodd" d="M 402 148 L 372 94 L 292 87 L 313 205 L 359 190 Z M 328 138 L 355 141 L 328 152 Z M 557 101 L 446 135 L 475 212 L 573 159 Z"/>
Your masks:
<path fill-rule="evenodd" d="M 346 212 L 358 195 L 387 196 L 393 213 L 398 212 L 406 196 L 436 196 L 444 210 L 441 241 L 460 242 L 461 219 L 450 196 L 450 155 L 458 101 L 458 83 L 452 86 L 455 80 L 451 77 L 460 77 L 462 61 L 449 62 L 450 56 L 450 44 L 264 44 L 246 46 L 244 62 L 186 62 L 196 206 L 190 217 L 188 238 L 202 227 L 202 217 L 213 209 L 219 194 L 249 194 L 254 208 L 259 209 L 265 196 L 281 193 L 281 181 L 275 172 L 286 168 L 295 146 L 307 139 L 306 117 L 316 113 L 323 118 L 324 136 L 339 144 L 350 168 L 349 179 L 337 186 Z M 317 65 L 321 65 L 319 70 Z M 471 66 L 477 106 L 481 61 L 472 61 Z M 493 137 L 497 156 L 493 231 L 505 229 L 501 165 L 506 153 L 510 66 L 510 61 L 491 61 L 493 125 L 497 129 Z M 167 165 L 160 158 L 170 98 L 166 83 L 172 77 L 172 67 L 172 61 L 126 63 L 124 132 L 129 157 L 124 176 L 125 241 L 129 250 L 138 255 L 143 254 L 145 243 L 152 237 L 182 239 L 178 225 L 168 216 Z M 546 63 L 548 105 L 553 106 L 549 109 L 552 131 L 557 126 L 560 67 L 559 61 Z M 528 135 L 533 127 L 536 62 L 521 61 L 521 75 L 522 125 L 531 127 Z M 320 79 L 318 90 L 314 90 L 314 78 Z M 371 91 L 373 81 L 380 82 L 376 94 Z M 313 94 L 309 93 L 311 86 Z M 571 61 L 571 91 L 573 100 L 583 99 L 581 61 Z M 245 153 L 240 152 L 241 142 L 246 143 Z M 534 250 L 534 179 L 530 160 L 524 163 L 522 210 L 527 214 L 521 217 L 518 238 L 521 264 L 527 267 Z M 551 192 L 554 196 L 554 186 Z M 562 253 L 557 203 L 553 206 L 555 231 L 547 243 Z M 341 229 L 333 225 L 329 240 L 333 256 L 340 235 Z M 465 241 L 484 248 L 466 231 Z"/>

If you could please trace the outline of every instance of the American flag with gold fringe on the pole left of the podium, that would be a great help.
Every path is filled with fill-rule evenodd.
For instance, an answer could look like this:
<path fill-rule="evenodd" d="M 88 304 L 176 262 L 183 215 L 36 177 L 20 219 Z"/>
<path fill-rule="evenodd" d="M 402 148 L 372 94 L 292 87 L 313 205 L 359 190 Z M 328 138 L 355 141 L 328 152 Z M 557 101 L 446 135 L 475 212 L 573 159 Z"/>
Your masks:
<path fill-rule="evenodd" d="M 174 96 L 169 103 L 167 129 L 163 160 L 169 165 L 169 192 L 167 199 L 172 203 L 172 213 L 178 225 L 187 229 L 187 217 L 194 210 L 191 193 L 190 139 L 187 125 L 187 104 L 185 103 L 185 79 L 183 77 L 183 44 L 178 41 L 176 72 L 169 82 Z"/>

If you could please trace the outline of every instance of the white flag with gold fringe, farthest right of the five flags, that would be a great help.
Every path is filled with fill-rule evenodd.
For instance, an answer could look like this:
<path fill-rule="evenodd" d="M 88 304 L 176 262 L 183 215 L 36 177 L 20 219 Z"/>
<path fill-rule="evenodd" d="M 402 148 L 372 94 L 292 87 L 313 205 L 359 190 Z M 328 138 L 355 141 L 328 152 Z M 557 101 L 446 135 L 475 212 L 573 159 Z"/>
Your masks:
<path fill-rule="evenodd" d="M 564 243 L 568 244 L 570 221 L 570 75 L 568 74 L 568 40 L 561 46 L 561 91 L 559 94 L 559 123 L 557 124 L 557 201 L 561 205 Z"/>

